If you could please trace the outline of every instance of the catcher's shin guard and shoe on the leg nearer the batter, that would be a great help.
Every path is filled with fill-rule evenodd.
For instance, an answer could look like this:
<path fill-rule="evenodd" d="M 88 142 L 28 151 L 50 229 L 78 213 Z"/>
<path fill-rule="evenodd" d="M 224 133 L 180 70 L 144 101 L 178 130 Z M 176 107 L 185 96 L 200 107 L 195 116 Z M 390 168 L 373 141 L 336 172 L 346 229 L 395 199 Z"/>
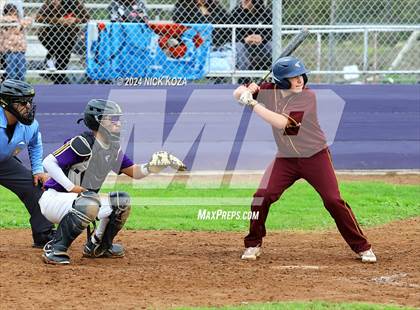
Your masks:
<path fill-rule="evenodd" d="M 109 201 L 112 207 L 112 213 L 109 215 L 109 222 L 105 228 L 102 240 L 96 235 L 88 236 L 84 248 L 84 256 L 86 257 L 110 257 L 118 258 L 125 255 L 124 247 L 120 244 L 113 244 L 115 236 L 123 228 L 130 214 L 130 196 L 125 192 L 109 193 Z"/>

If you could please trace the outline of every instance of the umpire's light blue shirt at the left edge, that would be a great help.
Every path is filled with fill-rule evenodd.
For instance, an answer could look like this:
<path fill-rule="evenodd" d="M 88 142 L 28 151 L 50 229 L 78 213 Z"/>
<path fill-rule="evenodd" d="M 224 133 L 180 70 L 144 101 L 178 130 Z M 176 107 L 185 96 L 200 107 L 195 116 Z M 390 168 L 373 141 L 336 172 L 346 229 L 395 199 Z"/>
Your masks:
<path fill-rule="evenodd" d="M 44 172 L 42 168 L 42 139 L 38 122 L 35 120 L 29 126 L 17 122 L 10 142 L 6 134 L 6 128 L 6 114 L 3 108 L 0 108 L 0 164 L 12 156 L 16 156 L 27 146 L 32 174 Z"/>

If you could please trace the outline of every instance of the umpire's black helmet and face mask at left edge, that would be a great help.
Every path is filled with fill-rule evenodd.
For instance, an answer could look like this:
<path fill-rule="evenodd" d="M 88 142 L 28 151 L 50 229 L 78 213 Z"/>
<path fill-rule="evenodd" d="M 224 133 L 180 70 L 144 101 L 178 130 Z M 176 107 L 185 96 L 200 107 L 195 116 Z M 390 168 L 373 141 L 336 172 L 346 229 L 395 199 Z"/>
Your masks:
<path fill-rule="evenodd" d="M 22 81 L 5 80 L 0 86 L 0 106 L 24 125 L 31 125 L 35 119 L 36 105 L 32 102 L 34 96 L 34 88 Z M 30 104 L 29 110 L 22 114 L 19 105 L 28 104 Z"/>

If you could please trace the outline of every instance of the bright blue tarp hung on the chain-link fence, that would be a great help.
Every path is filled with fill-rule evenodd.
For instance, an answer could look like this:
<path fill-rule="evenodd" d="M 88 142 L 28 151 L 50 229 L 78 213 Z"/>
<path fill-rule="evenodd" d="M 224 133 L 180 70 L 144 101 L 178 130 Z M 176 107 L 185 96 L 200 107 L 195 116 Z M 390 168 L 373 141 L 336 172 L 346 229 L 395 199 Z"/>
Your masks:
<path fill-rule="evenodd" d="M 160 36 L 146 24 L 90 22 L 86 31 L 87 74 L 93 80 L 129 77 L 200 79 L 209 71 L 213 27 L 209 24 L 186 26 L 188 29 L 180 39 L 187 52 L 176 59 L 165 54 L 158 43 Z M 199 47 L 194 44 L 197 35 L 203 39 Z"/>

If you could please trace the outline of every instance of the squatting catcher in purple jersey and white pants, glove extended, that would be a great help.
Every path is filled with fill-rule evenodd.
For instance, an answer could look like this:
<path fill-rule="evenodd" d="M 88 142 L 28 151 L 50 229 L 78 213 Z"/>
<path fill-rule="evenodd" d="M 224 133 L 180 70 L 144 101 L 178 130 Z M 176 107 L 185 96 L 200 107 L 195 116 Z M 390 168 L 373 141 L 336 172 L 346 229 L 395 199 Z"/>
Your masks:
<path fill-rule="evenodd" d="M 141 179 L 167 167 L 186 169 L 181 160 L 165 151 L 154 153 L 146 164 L 134 164 L 120 148 L 121 116 L 117 103 L 92 99 L 79 120 L 90 131 L 68 139 L 44 159 L 50 179 L 44 184 L 46 191 L 39 205 L 42 214 L 58 224 L 54 239 L 44 246 L 44 262 L 69 264 L 68 248 L 96 219 L 99 223 L 93 232 L 88 230 L 83 255 L 124 256 L 124 247 L 113 240 L 130 214 L 130 196 L 125 192 L 111 192 L 105 197 L 98 194 L 111 170 Z"/>

